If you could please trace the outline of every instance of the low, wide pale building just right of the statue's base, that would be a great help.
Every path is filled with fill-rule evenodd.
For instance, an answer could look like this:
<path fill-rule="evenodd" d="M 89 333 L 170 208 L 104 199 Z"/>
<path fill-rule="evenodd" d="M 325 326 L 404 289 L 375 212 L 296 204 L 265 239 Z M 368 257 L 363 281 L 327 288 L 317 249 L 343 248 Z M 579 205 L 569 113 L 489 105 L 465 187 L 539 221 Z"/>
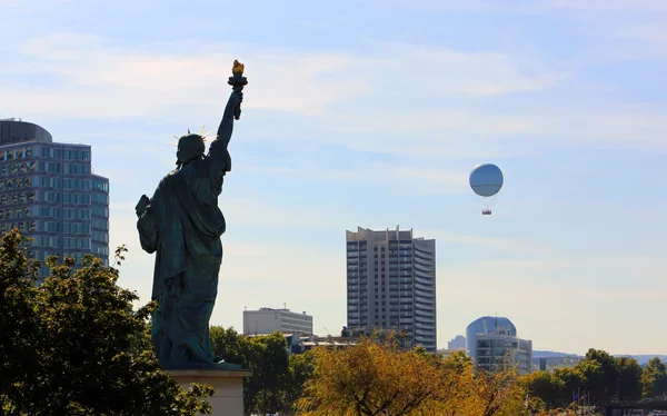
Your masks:
<path fill-rule="evenodd" d="M 261 335 L 280 331 L 312 335 L 312 316 L 290 311 L 289 309 L 259 308 L 243 310 L 243 334 Z"/>

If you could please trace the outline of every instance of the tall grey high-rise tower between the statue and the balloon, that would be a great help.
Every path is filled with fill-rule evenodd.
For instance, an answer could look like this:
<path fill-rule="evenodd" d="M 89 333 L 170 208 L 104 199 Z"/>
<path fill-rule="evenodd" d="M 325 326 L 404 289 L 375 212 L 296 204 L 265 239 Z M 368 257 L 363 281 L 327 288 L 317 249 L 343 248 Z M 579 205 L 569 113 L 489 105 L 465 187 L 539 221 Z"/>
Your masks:
<path fill-rule="evenodd" d="M 347 231 L 348 328 L 407 331 L 436 351 L 436 240 L 412 230 Z"/>

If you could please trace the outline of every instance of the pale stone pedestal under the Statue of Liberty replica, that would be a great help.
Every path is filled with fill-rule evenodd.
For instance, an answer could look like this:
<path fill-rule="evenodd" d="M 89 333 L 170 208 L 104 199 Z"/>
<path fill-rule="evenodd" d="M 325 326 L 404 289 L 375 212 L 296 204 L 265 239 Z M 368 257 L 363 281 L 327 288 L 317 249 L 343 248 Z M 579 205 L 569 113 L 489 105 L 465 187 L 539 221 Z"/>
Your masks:
<path fill-rule="evenodd" d="M 173 369 L 176 382 L 185 389 L 192 383 L 213 386 L 216 393 L 208 398 L 212 416 L 243 416 L 243 377 L 252 372 L 245 369 Z"/>

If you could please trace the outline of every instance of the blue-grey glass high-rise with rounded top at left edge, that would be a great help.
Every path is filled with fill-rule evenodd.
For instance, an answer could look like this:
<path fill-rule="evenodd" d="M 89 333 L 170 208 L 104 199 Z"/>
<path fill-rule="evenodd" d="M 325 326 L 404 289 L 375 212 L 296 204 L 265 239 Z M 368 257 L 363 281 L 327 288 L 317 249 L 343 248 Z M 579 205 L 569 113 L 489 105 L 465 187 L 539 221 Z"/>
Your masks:
<path fill-rule="evenodd" d="M 109 263 L 109 179 L 92 174 L 87 145 L 58 143 L 40 126 L 0 120 L 0 234 L 34 240 L 28 256 Z M 49 275 L 43 266 L 41 276 Z"/>

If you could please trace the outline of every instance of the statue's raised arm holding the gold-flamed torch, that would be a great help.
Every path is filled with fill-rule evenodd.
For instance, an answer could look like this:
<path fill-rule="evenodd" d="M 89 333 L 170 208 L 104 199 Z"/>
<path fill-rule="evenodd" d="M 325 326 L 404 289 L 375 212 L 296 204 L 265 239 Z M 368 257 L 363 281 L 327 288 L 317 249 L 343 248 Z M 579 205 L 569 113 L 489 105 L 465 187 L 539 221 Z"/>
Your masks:
<path fill-rule="evenodd" d="M 232 77 L 229 77 L 227 81 L 232 87 L 231 96 L 225 107 L 225 113 L 222 115 L 222 121 L 218 128 L 216 140 L 211 142 L 209 148 L 209 157 L 213 162 L 220 164 L 222 171 L 228 172 L 231 170 L 231 158 L 227 147 L 231 140 L 231 133 L 233 131 L 233 121 L 241 117 L 241 102 L 243 101 L 243 87 L 248 83 L 246 77 L 243 77 L 243 65 L 239 61 L 233 61 L 231 69 Z"/>

